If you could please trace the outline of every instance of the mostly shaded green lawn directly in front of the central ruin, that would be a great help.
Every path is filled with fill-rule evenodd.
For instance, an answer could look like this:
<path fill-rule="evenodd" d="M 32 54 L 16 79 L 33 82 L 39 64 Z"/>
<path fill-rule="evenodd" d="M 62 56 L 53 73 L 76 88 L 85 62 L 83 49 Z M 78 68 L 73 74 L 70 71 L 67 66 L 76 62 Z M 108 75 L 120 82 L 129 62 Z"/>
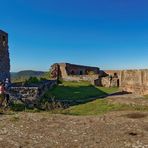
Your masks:
<path fill-rule="evenodd" d="M 45 97 L 55 97 L 56 99 L 82 100 L 93 97 L 100 97 L 117 92 L 118 88 L 95 87 L 89 82 L 63 82 L 52 90 L 49 90 Z"/>

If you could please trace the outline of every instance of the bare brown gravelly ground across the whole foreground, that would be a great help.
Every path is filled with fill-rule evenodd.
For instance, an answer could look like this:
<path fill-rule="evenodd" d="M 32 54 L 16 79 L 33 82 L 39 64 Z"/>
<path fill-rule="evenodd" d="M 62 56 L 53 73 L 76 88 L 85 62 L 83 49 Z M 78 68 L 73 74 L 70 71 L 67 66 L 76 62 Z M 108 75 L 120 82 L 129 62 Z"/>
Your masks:
<path fill-rule="evenodd" d="M 147 148 L 148 113 L 0 115 L 2 148 Z"/>

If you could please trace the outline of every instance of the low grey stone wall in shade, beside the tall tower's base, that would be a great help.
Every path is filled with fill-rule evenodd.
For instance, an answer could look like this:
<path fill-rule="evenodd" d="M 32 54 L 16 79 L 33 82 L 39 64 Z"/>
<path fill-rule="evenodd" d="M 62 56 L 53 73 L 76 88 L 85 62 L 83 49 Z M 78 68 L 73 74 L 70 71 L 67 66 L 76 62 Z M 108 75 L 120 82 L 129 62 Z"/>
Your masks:
<path fill-rule="evenodd" d="M 42 83 L 32 84 L 30 86 L 12 84 L 10 95 L 18 99 L 36 100 L 42 97 L 48 89 L 52 88 L 56 84 L 56 80 L 43 81 Z"/>

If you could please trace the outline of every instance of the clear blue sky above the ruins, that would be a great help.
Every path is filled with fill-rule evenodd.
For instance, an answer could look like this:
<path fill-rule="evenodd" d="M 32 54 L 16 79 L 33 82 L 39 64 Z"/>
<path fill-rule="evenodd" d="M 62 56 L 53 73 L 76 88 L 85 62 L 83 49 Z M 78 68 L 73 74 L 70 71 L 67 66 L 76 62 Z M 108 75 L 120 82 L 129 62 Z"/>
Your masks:
<path fill-rule="evenodd" d="M 147 0 L 0 0 L 11 71 L 55 62 L 148 68 Z"/>

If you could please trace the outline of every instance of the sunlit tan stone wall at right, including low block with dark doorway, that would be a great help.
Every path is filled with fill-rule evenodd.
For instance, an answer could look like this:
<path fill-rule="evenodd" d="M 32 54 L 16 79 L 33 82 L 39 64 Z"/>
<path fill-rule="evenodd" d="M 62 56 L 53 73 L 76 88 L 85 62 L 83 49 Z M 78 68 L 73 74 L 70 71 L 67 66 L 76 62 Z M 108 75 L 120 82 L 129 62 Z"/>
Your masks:
<path fill-rule="evenodd" d="M 131 92 L 134 94 L 148 94 L 148 69 L 141 70 L 108 70 L 105 71 L 109 75 L 117 73 L 119 79 L 119 88 L 121 91 Z M 102 86 L 111 87 L 117 85 L 117 79 L 110 81 L 109 77 L 101 80 Z"/>

